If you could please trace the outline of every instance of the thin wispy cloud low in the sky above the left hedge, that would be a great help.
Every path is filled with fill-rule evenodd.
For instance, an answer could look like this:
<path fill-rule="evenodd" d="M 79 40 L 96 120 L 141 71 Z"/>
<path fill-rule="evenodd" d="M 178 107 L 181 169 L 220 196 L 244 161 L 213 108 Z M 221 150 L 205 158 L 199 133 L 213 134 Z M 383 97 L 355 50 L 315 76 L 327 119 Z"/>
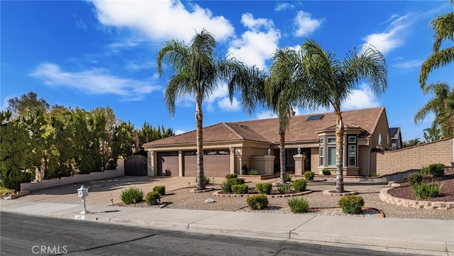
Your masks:
<path fill-rule="evenodd" d="M 85 94 L 116 94 L 128 101 L 143 99 L 145 94 L 160 89 L 148 82 L 116 77 L 104 69 L 64 72 L 52 63 L 39 65 L 31 76 L 43 80 L 49 86 L 70 87 Z"/>

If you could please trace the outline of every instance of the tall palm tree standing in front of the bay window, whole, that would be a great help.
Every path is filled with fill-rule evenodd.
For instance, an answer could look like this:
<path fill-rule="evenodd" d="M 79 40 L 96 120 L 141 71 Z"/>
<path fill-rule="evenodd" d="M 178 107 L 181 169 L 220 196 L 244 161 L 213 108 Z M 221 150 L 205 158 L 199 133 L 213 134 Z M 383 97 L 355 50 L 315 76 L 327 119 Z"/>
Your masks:
<path fill-rule="evenodd" d="M 353 93 L 362 79 L 370 80 L 372 91 L 378 96 L 387 88 L 387 65 L 382 53 L 372 45 L 363 45 L 360 52 L 348 52 L 338 60 L 333 52 L 326 52 L 315 40 L 306 40 L 301 47 L 304 56 L 299 77 L 304 88 L 290 91 L 304 99 L 306 106 L 331 107 L 336 115 L 336 193 L 343 186 L 343 134 L 341 104 Z"/>

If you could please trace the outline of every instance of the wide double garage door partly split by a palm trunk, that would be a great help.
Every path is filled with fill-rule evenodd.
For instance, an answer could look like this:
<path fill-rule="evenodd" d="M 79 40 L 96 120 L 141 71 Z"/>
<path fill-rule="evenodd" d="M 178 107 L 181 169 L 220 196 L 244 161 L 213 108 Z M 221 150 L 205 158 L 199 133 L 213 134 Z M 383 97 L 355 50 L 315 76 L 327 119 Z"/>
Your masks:
<path fill-rule="evenodd" d="M 183 152 L 184 176 L 197 176 L 196 151 Z M 224 177 L 230 173 L 230 155 L 228 150 L 204 151 L 204 175 L 206 177 Z"/>

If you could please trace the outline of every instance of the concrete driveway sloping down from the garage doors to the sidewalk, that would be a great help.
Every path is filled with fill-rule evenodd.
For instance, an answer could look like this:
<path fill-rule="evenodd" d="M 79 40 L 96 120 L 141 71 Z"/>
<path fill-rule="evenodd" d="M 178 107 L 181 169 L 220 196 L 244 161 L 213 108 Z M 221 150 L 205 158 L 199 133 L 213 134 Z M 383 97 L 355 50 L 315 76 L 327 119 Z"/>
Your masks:
<path fill-rule="evenodd" d="M 77 189 L 83 184 L 89 189 L 87 204 L 111 205 L 121 202 L 121 191 L 128 187 L 138 187 L 145 194 L 153 190 L 155 186 L 165 186 L 166 191 L 191 187 L 196 184 L 194 177 L 115 177 L 111 179 L 99 179 L 91 182 L 67 184 L 59 187 L 31 191 L 31 194 L 14 200 L 40 201 L 61 204 L 80 204 L 81 199 L 77 197 Z"/>

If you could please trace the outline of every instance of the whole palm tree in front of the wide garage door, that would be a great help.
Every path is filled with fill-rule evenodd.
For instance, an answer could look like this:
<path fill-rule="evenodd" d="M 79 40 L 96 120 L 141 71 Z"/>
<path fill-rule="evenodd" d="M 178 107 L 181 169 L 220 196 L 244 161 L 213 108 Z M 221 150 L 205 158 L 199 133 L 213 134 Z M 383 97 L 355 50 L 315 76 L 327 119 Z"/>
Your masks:
<path fill-rule="evenodd" d="M 187 94 L 196 97 L 196 148 L 197 148 L 197 187 L 205 189 L 204 184 L 204 149 L 203 149 L 203 111 L 201 104 L 218 87 L 218 83 L 227 79 L 236 63 L 230 59 L 216 60 L 216 39 L 203 29 L 196 33 L 189 45 L 177 40 L 169 40 L 157 53 L 157 70 L 162 75 L 162 62 L 169 63 L 175 74 L 170 78 L 165 89 L 165 104 L 170 115 L 175 115 L 175 99 Z"/>

